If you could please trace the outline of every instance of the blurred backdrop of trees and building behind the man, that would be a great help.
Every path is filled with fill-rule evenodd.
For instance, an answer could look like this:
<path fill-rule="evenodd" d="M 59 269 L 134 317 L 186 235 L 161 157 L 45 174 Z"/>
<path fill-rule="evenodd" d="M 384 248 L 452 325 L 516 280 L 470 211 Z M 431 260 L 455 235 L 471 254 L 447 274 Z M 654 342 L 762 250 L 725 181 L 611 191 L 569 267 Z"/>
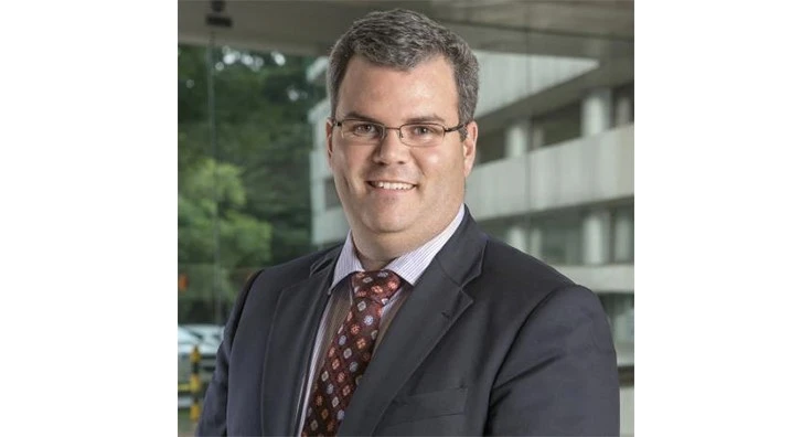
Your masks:
<path fill-rule="evenodd" d="M 396 7 L 474 49 L 466 202 L 494 237 L 598 294 L 621 435 L 633 435 L 634 10 L 610 0 L 179 1 L 179 435 L 247 277 L 345 237 L 324 153 L 325 55 L 353 20 Z"/>

